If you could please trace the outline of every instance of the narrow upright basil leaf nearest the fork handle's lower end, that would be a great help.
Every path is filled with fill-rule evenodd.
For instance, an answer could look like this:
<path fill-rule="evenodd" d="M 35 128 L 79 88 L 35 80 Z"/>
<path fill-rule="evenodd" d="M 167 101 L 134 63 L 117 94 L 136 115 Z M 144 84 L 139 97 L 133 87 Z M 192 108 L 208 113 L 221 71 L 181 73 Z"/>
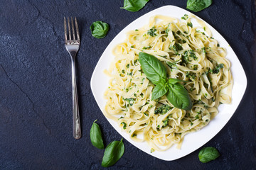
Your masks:
<path fill-rule="evenodd" d="M 95 123 L 96 121 L 97 120 L 92 123 L 92 128 L 90 129 L 90 140 L 93 146 L 97 147 L 98 149 L 104 149 L 102 133 L 100 131 L 100 126 Z"/>

